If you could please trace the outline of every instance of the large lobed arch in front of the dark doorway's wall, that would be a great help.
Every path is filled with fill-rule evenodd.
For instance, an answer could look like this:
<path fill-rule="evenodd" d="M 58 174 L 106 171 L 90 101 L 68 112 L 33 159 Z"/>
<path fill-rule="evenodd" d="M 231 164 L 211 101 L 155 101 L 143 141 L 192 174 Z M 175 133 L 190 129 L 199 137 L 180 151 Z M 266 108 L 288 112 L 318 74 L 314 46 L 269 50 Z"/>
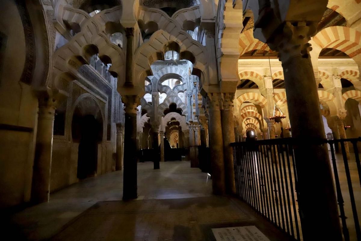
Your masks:
<path fill-rule="evenodd" d="M 95 54 L 98 54 L 105 64 L 112 64 L 109 72 L 114 77 L 119 77 L 118 82 L 121 82 L 124 79 L 124 53 L 110 42 L 112 33 L 104 32 L 106 24 L 114 21 L 119 21 L 117 13 L 112 12 L 112 9 L 104 10 L 96 17 L 89 18 L 80 33 L 55 51 L 52 78 L 48 86 L 67 95 L 69 81 L 77 78 L 79 67 L 89 64 L 90 57 Z"/>

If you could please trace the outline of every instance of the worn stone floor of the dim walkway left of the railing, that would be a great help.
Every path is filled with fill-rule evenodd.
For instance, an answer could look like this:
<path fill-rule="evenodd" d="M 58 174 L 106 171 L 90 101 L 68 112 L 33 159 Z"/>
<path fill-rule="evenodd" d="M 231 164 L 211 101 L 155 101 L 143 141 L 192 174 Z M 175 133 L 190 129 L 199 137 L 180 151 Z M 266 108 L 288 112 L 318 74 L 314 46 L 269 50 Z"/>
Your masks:
<path fill-rule="evenodd" d="M 89 178 L 51 200 L 3 216 L 12 240 L 214 240 L 212 228 L 256 225 L 270 240 L 288 240 L 251 208 L 212 195 L 212 181 L 189 162 L 138 164 L 138 195 L 123 202 L 122 171 Z M 7 219 L 5 220 L 4 217 Z M 10 219 L 10 221 L 9 221 Z"/>

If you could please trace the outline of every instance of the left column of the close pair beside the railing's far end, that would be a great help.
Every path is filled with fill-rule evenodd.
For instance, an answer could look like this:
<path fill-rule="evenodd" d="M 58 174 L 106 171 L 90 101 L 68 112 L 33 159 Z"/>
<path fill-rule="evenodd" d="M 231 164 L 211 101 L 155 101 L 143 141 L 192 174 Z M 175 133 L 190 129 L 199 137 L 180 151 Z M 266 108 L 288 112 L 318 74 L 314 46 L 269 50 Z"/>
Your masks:
<path fill-rule="evenodd" d="M 226 193 L 220 105 L 221 94 L 208 93 L 209 147 L 212 165 L 212 189 L 215 195 L 224 195 Z"/>

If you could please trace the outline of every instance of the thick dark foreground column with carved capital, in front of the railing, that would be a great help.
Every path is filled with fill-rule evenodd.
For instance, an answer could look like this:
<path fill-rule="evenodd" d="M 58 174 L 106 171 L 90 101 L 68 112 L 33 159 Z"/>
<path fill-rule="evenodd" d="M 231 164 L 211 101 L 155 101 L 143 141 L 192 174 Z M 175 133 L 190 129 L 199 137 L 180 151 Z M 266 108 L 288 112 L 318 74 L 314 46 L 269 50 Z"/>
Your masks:
<path fill-rule="evenodd" d="M 304 240 L 342 240 L 336 194 L 325 139 L 308 43 L 317 22 L 284 22 L 267 40 L 282 61 L 299 191 Z M 300 74 L 302 73 L 302 74 Z M 312 123 L 312 124 L 310 124 Z"/>

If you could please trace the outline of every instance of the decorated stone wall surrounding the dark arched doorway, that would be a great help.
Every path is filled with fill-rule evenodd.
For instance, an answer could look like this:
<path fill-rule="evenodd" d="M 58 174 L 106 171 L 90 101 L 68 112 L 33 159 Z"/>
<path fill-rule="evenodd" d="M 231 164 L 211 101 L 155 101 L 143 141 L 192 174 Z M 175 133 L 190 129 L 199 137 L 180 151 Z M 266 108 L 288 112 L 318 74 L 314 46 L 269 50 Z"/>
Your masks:
<path fill-rule="evenodd" d="M 93 114 L 94 109 L 100 108 L 100 119 L 103 124 L 102 141 L 97 145 L 97 168 L 96 176 L 115 171 L 115 152 L 116 152 L 116 128 L 112 125 L 113 111 L 113 85 L 108 83 L 109 79 L 104 79 L 91 66 L 83 66 L 78 74 L 79 79 L 70 85 L 71 95 L 65 101 L 60 103 L 61 109 L 56 116 L 55 122 L 64 121 L 63 135 L 54 135 L 51 182 L 50 191 L 56 191 L 75 182 L 78 182 L 78 153 L 79 140 L 72 136 L 72 121 L 75 109 L 82 112 L 82 115 Z M 112 80 L 111 80 L 112 81 Z M 83 102 L 81 100 L 86 96 L 93 102 Z M 81 104 L 80 104 L 81 103 Z M 96 106 L 92 106 L 91 104 Z M 98 113 L 98 115 L 100 115 Z M 60 118 L 60 120 L 57 120 Z M 56 125 L 55 125 L 56 126 Z M 73 127 L 74 128 L 74 127 Z M 61 129 L 61 128 L 60 128 Z M 61 133 L 61 132 L 57 132 Z"/>

